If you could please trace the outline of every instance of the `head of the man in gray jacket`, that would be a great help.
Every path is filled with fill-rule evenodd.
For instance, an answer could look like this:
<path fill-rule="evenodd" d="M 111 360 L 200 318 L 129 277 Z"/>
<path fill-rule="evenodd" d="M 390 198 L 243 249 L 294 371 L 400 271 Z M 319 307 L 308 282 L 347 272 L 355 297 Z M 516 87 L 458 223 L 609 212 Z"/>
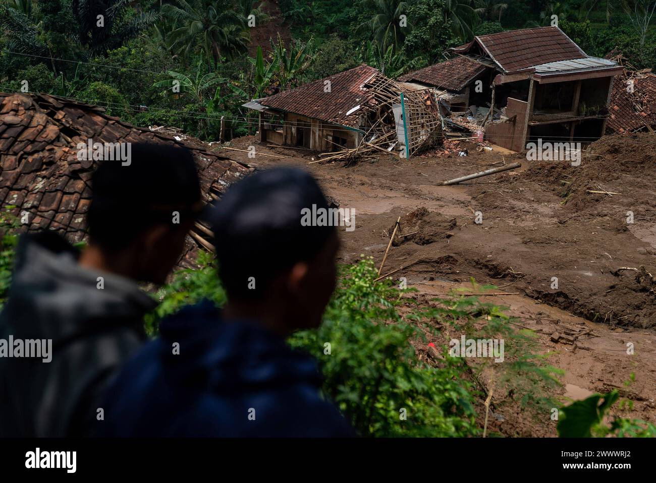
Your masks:
<path fill-rule="evenodd" d="M 91 184 L 89 247 L 121 260 L 134 279 L 164 282 L 201 207 L 190 151 L 133 144 L 129 164 L 102 162 Z"/>

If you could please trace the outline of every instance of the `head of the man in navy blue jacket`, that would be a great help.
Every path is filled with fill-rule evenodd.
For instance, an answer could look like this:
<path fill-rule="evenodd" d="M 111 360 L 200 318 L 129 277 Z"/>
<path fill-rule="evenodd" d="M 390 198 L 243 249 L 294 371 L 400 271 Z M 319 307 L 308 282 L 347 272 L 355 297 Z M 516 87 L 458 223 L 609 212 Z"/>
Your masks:
<path fill-rule="evenodd" d="M 280 332 L 319 326 L 335 290 L 337 232 L 301 223 L 313 205 L 329 208 L 312 176 L 274 168 L 230 187 L 213 216 L 229 305 L 275 313 Z"/>

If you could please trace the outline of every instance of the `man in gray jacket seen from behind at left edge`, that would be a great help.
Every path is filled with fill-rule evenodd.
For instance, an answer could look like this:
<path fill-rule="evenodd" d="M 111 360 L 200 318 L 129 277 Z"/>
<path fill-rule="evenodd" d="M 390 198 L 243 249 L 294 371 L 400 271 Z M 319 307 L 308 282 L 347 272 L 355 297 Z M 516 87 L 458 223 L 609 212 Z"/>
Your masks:
<path fill-rule="evenodd" d="M 0 314 L 0 436 L 98 431 L 102 391 L 156 305 L 137 282 L 165 281 L 201 205 L 192 155 L 174 147 L 133 144 L 129 165 L 100 164 L 92 190 L 81 252 L 52 232 L 19 242 Z"/>

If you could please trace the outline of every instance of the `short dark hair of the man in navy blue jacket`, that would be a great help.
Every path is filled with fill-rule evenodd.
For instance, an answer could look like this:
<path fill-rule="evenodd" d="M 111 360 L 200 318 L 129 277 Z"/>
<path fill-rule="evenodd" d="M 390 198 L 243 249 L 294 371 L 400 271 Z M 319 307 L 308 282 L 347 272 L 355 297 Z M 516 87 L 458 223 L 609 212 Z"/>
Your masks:
<path fill-rule="evenodd" d="M 272 168 L 232 185 L 211 214 L 221 281 L 229 298 L 262 299 L 272 280 L 324 248 L 333 226 L 303 226 L 302 210 L 329 208 L 310 174 Z M 249 288 L 255 277 L 255 290 Z"/>

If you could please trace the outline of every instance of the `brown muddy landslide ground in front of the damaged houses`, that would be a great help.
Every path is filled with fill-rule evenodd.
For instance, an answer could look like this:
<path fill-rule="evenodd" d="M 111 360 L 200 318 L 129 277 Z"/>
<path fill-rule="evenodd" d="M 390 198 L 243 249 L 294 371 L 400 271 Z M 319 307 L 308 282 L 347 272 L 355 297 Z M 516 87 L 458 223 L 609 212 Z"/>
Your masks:
<path fill-rule="evenodd" d="M 656 134 L 605 137 L 584 151 L 580 166 L 529 163 L 524 155 L 497 147 L 479 151 L 469 142 L 457 146 L 467 149 L 466 157 L 441 149 L 352 166 L 308 164 L 319 159 L 316 153 L 270 147 L 252 137 L 231 144 L 249 145 L 256 146 L 255 159 L 223 152 L 261 168 L 307 169 L 340 207 L 356 210 L 356 229 L 340 231 L 340 261 L 364 254 L 380 263 L 401 217 L 382 273 L 405 277 L 419 290 L 413 297 L 424 303 L 453 288 L 471 288 L 472 277 L 494 284 L 499 288 L 492 293 L 506 295 L 485 299 L 509 307 L 523 327 L 535 330 L 550 364 L 565 371 L 554 396 L 565 401 L 619 388 L 634 400 L 623 416 L 656 423 Z M 518 161 L 517 170 L 439 185 Z M 623 267 L 638 271 L 618 271 Z M 552 288 L 553 277 L 558 288 Z M 576 347 L 571 340 L 552 340 L 572 334 L 584 334 Z M 634 354 L 626 353 L 627 343 Z M 426 347 L 417 349 L 425 357 Z M 635 381 L 625 386 L 631 374 Z M 555 421 L 528 415 L 516 399 L 495 391 L 491 431 L 556 434 Z"/>

